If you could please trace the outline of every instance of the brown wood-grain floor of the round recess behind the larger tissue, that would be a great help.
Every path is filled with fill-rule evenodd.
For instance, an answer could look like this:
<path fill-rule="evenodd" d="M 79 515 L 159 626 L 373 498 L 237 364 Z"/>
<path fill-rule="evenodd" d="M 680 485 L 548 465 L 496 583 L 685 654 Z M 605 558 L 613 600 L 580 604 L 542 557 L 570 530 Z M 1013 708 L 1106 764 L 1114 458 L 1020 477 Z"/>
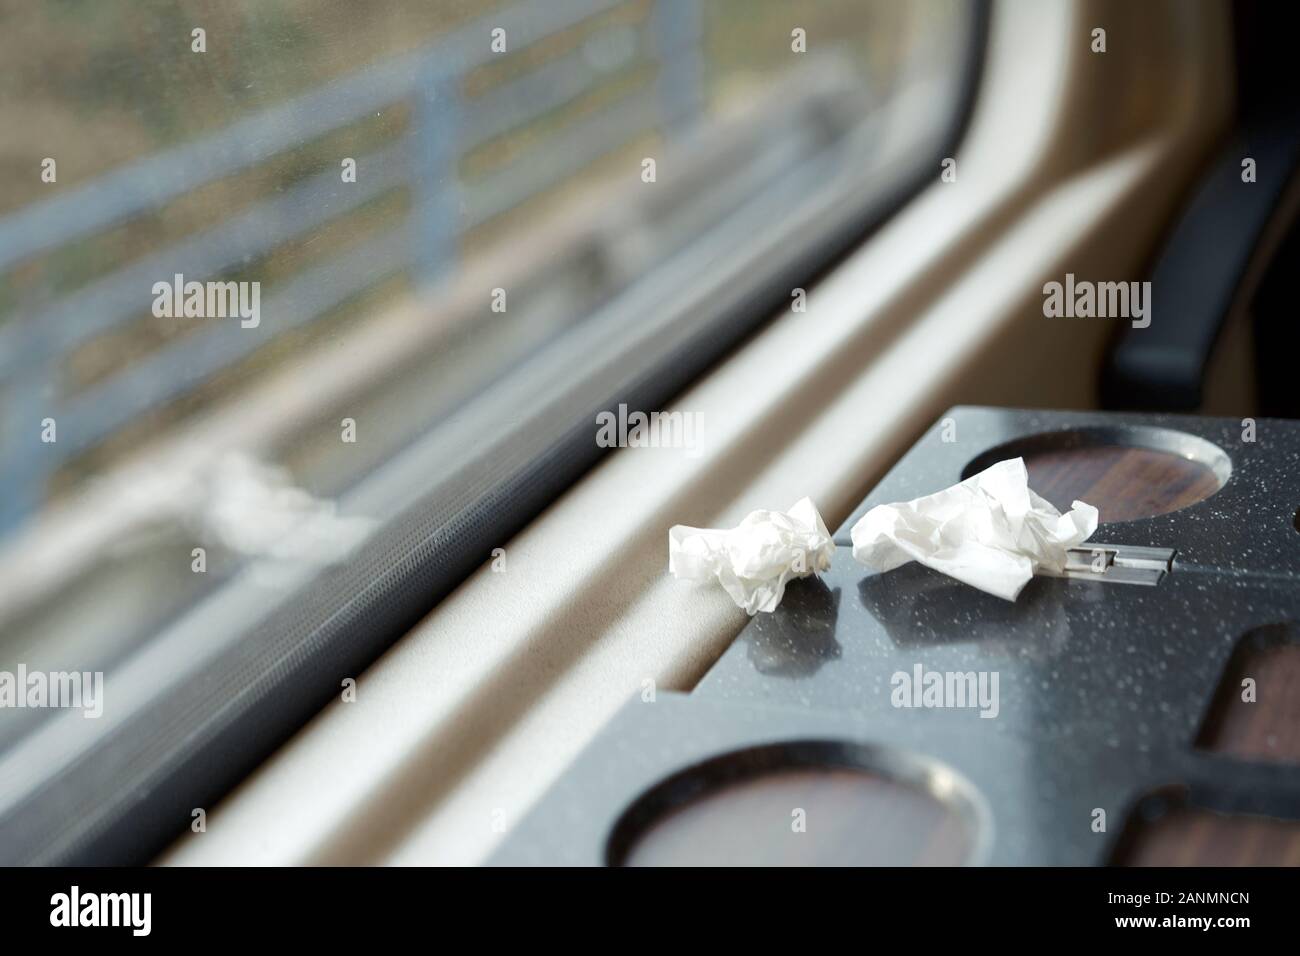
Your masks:
<path fill-rule="evenodd" d="M 1131 522 L 1195 505 L 1214 494 L 1214 472 L 1156 449 L 1095 445 L 1044 449 L 1024 455 L 1030 488 L 1066 511 L 1076 498 L 1095 506 L 1101 522 Z"/>

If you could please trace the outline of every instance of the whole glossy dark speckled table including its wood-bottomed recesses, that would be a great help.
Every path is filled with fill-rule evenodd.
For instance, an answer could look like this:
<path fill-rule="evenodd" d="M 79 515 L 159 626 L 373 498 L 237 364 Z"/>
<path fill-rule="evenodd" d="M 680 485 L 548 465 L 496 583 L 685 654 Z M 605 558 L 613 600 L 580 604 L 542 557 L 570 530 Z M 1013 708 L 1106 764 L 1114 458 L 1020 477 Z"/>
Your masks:
<path fill-rule="evenodd" d="M 497 860 L 1297 862 L 1300 425 L 1258 428 L 953 410 L 836 532 L 827 574 L 690 695 L 629 702 Z M 1093 540 L 1173 548 L 1174 570 L 1035 578 L 1011 604 L 853 562 L 868 507 L 1014 454 L 1049 501 L 1098 506 Z M 930 674 L 996 693 L 900 697 Z"/>

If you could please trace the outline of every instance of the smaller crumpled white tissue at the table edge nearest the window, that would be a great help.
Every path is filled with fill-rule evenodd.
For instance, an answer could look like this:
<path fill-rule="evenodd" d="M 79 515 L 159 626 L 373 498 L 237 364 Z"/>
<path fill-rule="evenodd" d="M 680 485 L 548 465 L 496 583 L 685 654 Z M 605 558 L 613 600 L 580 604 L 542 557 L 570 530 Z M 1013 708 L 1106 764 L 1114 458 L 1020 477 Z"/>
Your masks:
<path fill-rule="evenodd" d="M 668 531 L 668 571 L 679 580 L 716 578 L 750 615 L 775 611 L 794 578 L 831 567 L 835 541 L 811 498 L 789 511 L 751 511 L 731 529 Z"/>

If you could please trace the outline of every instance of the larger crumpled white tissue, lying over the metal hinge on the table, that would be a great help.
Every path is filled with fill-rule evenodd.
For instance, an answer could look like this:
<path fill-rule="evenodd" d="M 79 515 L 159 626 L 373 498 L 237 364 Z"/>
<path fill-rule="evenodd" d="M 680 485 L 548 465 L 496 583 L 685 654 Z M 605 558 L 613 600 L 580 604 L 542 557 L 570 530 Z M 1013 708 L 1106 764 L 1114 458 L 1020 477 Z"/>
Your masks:
<path fill-rule="evenodd" d="M 1030 488 L 1023 458 L 915 501 L 878 505 L 853 525 L 853 557 L 878 571 L 918 561 L 1014 601 L 1039 568 L 1060 574 L 1066 551 L 1097 529 L 1082 501 L 1061 514 Z"/>

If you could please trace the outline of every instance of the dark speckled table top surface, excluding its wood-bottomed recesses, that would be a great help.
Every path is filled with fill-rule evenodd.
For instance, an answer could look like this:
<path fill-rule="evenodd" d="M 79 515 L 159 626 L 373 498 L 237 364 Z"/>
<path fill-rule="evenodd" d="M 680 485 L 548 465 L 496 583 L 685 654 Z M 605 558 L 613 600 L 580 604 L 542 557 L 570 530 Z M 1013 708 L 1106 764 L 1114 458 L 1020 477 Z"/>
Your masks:
<path fill-rule="evenodd" d="M 1035 578 L 1010 604 L 916 564 L 876 574 L 852 558 L 849 528 L 876 503 L 928 494 L 1002 458 L 1088 445 L 1157 449 L 1213 475 L 1201 493 L 1222 484 L 1093 536 L 1174 549 L 1156 587 Z M 1206 479 L 1187 486 L 1196 481 Z M 610 862 L 611 834 L 647 818 L 651 797 L 653 808 L 680 808 L 744 777 L 728 754 L 742 767 L 754 748 L 780 745 L 806 763 L 810 741 L 842 741 L 848 756 L 828 758 L 835 766 L 959 805 L 967 862 L 1106 862 L 1124 819 L 1156 793 L 1217 813 L 1300 818 L 1296 765 L 1196 745 L 1243 637 L 1300 622 L 1297 509 L 1300 423 L 954 408 L 836 532 L 831 571 L 792 584 L 690 695 L 629 702 L 495 861 Z M 930 672 L 983 675 L 985 691 L 996 675 L 996 697 L 926 706 L 896 692 L 898 675 L 919 683 Z"/>

